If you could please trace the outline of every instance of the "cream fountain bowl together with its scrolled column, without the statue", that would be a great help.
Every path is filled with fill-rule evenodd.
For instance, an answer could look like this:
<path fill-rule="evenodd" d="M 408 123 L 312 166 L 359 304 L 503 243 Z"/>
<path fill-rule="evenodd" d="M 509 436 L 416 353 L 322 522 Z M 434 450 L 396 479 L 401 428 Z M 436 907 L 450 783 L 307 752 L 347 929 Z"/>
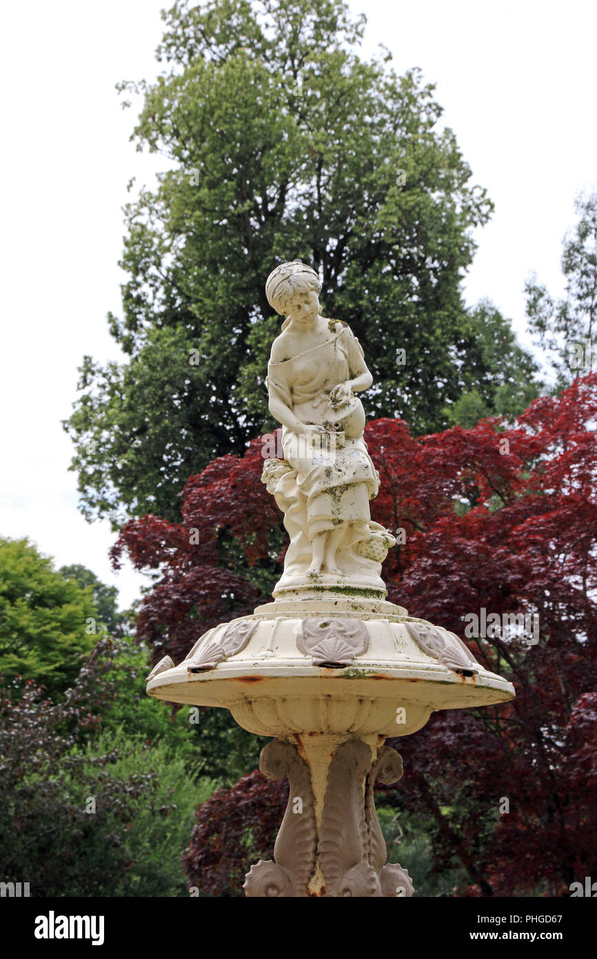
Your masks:
<path fill-rule="evenodd" d="M 202 636 L 187 659 L 166 657 L 149 695 L 229 709 L 251 733 L 274 737 L 261 768 L 288 777 L 275 861 L 255 864 L 247 896 L 409 896 L 385 864 L 376 780 L 402 776 L 386 737 L 421 729 L 435 710 L 514 696 L 453 633 L 401 606 L 358 598 L 277 600 Z"/>

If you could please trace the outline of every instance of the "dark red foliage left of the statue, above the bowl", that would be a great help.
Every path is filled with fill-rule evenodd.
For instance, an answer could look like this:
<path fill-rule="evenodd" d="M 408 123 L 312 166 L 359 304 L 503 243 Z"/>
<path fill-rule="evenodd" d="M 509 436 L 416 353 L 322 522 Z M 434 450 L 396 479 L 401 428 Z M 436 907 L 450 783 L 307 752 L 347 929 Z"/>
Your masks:
<path fill-rule="evenodd" d="M 160 579 L 144 598 L 137 635 L 179 662 L 218 622 L 246 616 L 260 590 L 221 562 L 218 536 L 234 537 L 255 566 L 268 549 L 268 532 L 280 513 L 260 482 L 262 443 L 254 440 L 242 458 L 220 456 L 189 479 L 183 491 L 181 524 L 148 515 L 131 520 L 110 550 L 115 569 L 126 550 L 139 570 L 159 570 Z"/>

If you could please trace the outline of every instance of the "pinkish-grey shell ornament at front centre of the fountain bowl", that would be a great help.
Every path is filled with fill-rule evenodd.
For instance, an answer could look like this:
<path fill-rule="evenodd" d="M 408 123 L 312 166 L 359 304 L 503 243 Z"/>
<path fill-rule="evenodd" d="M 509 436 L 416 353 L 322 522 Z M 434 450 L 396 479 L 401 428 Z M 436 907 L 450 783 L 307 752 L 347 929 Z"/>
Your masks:
<path fill-rule="evenodd" d="M 362 620 L 313 617 L 302 621 L 296 645 L 313 666 L 343 669 L 367 651 L 369 632 Z"/>

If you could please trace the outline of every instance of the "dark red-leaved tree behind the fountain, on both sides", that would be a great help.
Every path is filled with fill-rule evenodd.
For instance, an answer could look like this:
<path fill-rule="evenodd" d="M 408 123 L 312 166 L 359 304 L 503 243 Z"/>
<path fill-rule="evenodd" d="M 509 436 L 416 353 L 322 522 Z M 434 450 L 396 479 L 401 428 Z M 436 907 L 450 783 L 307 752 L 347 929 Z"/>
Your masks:
<path fill-rule="evenodd" d="M 463 871 L 469 895 L 567 895 L 572 881 L 597 874 L 596 416 L 590 373 L 512 424 L 492 417 L 419 439 L 398 419 L 367 427 L 381 478 L 374 519 L 403 533 L 384 565 L 388 598 L 464 636 L 517 690 L 510 703 L 443 711 L 394 741 L 406 775 L 385 789 L 383 806 L 425 822 L 434 869 Z M 138 568 L 160 569 L 139 620 L 155 655 L 182 659 L 209 626 L 266 600 L 251 571 L 263 562 L 273 578 L 283 550 L 276 555 L 281 516 L 260 482 L 262 450 L 254 441 L 245 456 L 220 457 L 190 479 L 182 524 L 146 517 L 123 530 L 115 561 L 127 550 Z M 201 526 L 202 549 L 190 546 L 190 526 Z M 219 546 L 231 541 L 244 556 L 236 570 Z M 484 609 L 497 626 L 479 626 Z M 513 616 L 528 617 L 531 632 Z M 476 636 L 467 632 L 475 617 Z M 200 830 L 208 819 L 204 810 Z M 240 816 L 226 828 L 220 860 L 210 845 L 214 889 L 224 888 L 235 828 L 241 846 Z"/>

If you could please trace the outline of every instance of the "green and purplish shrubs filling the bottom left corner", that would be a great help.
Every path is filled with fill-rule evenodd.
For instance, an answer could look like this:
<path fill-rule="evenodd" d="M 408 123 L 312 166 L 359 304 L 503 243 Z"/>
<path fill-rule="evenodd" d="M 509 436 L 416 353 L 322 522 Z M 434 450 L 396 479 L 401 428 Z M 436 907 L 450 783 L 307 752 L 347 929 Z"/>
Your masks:
<path fill-rule="evenodd" d="M 114 727 L 115 673 L 100 652 L 65 702 L 31 682 L 0 691 L 0 879 L 41 897 L 184 896 L 179 854 L 214 785 L 170 731 Z M 98 703 L 111 720 L 102 733 Z"/>

